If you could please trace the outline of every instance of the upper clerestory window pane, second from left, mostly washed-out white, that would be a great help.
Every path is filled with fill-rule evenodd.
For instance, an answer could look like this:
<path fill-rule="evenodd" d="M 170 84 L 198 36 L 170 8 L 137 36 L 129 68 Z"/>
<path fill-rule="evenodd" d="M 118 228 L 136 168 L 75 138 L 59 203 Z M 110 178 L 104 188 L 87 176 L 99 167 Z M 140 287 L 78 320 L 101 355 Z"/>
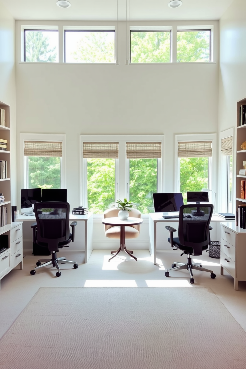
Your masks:
<path fill-rule="evenodd" d="M 115 63 L 114 31 L 65 31 L 66 63 Z"/>

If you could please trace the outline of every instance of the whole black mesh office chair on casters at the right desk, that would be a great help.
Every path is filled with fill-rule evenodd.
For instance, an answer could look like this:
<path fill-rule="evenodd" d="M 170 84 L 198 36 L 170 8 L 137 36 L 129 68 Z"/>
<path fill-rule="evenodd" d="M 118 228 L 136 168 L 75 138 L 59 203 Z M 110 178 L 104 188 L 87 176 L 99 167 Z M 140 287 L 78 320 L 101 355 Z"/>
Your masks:
<path fill-rule="evenodd" d="M 169 277 L 169 270 L 187 269 L 190 272 L 190 283 L 194 283 L 192 269 L 203 270 L 211 273 L 211 278 L 216 275 L 212 270 L 202 268 L 200 263 L 192 263 L 190 256 L 202 255 L 203 250 L 207 250 L 210 243 L 209 223 L 212 217 L 214 206 L 212 204 L 189 204 L 182 205 L 179 210 L 179 237 L 173 237 L 173 232 L 176 229 L 173 227 L 166 227 L 170 232 L 171 247 L 175 246 L 177 249 L 187 254 L 187 263 L 174 262 L 172 268 L 167 269 L 165 276 Z M 181 254 L 181 255 L 183 255 Z M 177 266 L 178 265 L 178 266 Z"/>

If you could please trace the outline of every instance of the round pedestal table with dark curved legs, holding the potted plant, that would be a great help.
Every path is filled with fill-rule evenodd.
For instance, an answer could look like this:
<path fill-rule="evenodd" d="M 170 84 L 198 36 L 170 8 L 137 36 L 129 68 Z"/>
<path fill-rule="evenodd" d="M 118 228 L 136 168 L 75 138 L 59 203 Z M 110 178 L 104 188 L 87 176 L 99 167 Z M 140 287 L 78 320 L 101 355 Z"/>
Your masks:
<path fill-rule="evenodd" d="M 114 217 L 114 218 L 104 218 L 102 220 L 102 223 L 121 227 L 119 249 L 117 251 L 111 251 L 111 254 L 115 254 L 114 256 L 112 256 L 112 258 L 118 255 L 120 251 L 125 251 L 128 255 L 130 255 L 132 258 L 138 261 L 138 259 L 134 255 L 132 255 L 132 251 L 127 250 L 127 248 L 125 247 L 125 226 L 141 224 L 143 223 L 143 220 L 141 218 L 128 218 L 126 220 L 121 220 L 118 217 Z M 108 261 L 112 260 L 112 258 L 110 258 Z"/>

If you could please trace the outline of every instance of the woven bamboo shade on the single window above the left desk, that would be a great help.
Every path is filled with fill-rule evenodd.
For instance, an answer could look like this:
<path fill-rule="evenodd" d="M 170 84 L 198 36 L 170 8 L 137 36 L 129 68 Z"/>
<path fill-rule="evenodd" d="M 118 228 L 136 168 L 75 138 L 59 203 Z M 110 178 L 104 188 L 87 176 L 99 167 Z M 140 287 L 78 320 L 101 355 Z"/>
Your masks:
<path fill-rule="evenodd" d="M 62 142 L 24 141 L 24 156 L 62 156 Z"/>

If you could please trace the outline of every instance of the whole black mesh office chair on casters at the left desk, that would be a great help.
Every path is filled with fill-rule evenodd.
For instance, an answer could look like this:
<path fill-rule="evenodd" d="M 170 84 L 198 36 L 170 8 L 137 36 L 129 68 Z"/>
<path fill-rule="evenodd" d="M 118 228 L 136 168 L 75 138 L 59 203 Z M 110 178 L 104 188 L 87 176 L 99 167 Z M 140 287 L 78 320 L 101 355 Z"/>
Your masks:
<path fill-rule="evenodd" d="M 57 258 L 56 252 L 69 242 L 74 241 L 74 227 L 77 222 L 72 222 L 72 234 L 69 228 L 69 203 L 65 202 L 43 202 L 34 204 L 34 213 L 37 223 L 31 225 L 33 242 L 39 246 L 48 248 L 52 253 L 51 259 L 41 259 L 36 263 L 36 267 L 31 270 L 31 275 L 36 273 L 36 269 L 46 265 L 53 265 L 58 269 L 56 276 L 60 277 L 61 272 L 58 264 L 72 263 L 73 268 L 78 268 L 75 261 L 69 261 L 65 257 Z M 44 262 L 41 264 L 41 262 Z"/>

